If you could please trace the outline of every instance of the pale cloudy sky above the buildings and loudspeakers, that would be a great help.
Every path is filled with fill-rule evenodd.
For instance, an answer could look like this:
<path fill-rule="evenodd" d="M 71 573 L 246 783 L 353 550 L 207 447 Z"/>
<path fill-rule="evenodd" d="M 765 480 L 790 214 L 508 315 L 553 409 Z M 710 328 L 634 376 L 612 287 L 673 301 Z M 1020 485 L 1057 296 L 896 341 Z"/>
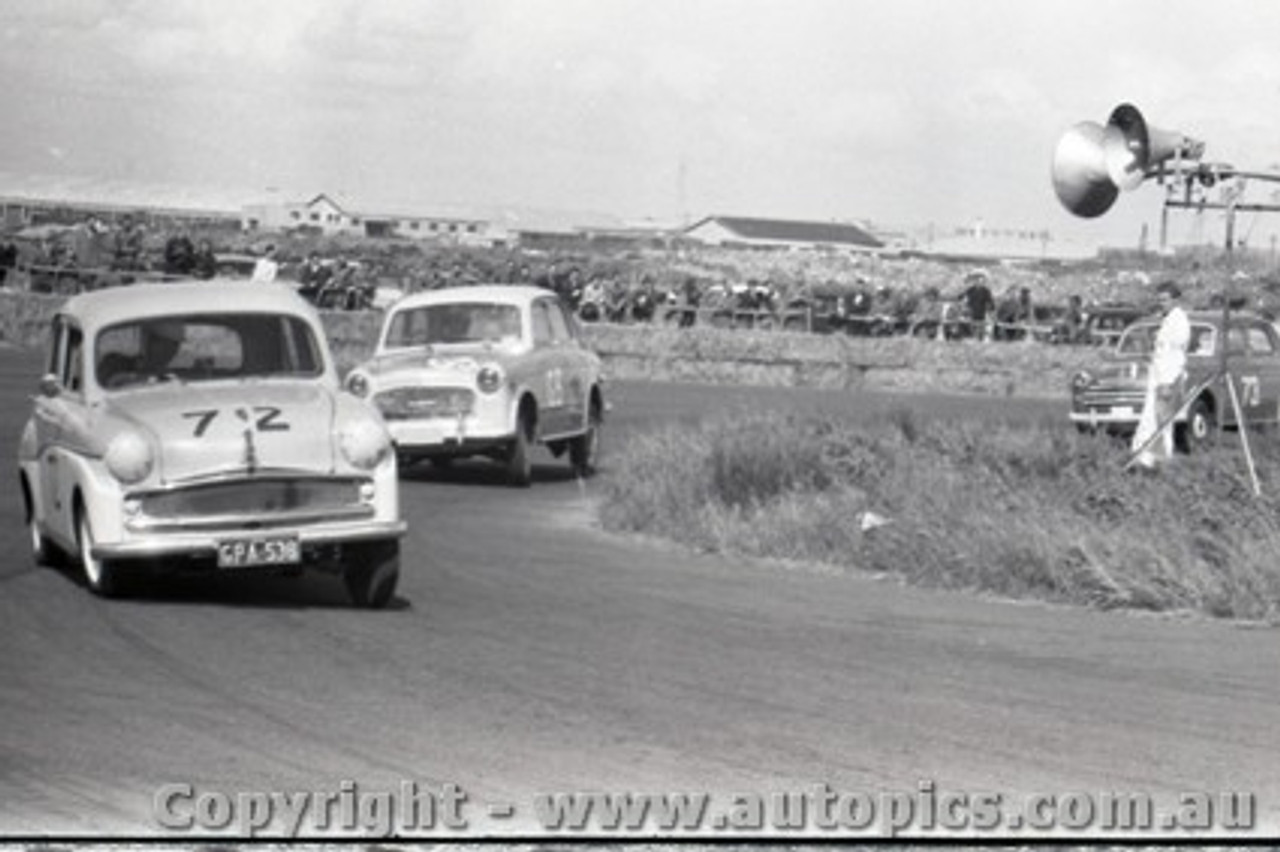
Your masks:
<path fill-rule="evenodd" d="M 1071 125 L 1132 102 L 1280 169 L 1274 0 L 0 0 L 0 168 L 32 175 L 1135 246 L 1161 189 L 1068 214 Z"/>

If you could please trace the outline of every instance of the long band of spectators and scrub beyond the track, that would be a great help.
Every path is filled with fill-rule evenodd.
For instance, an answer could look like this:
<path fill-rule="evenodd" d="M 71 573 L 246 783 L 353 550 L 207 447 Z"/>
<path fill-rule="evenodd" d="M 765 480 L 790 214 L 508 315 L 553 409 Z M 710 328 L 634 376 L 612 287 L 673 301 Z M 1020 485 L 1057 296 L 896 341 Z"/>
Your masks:
<path fill-rule="evenodd" d="M 42 228 L 42 230 L 41 230 Z M 0 275 L 18 285 L 76 292 L 141 279 L 220 274 L 285 280 L 316 304 L 360 310 L 379 292 L 412 293 L 477 283 L 544 287 L 585 321 L 678 325 L 786 325 L 938 338 L 1074 340 L 1100 304 L 1147 304 L 1158 280 L 1176 279 L 1189 301 L 1212 302 L 1228 285 L 1274 312 L 1267 270 L 1212 260 L 1181 266 L 948 264 L 925 257 L 765 252 L 703 246 L 550 248 L 462 247 L 403 239 L 257 234 L 156 226 L 123 215 L 24 229 L 0 242 Z M 840 319 L 829 321 L 826 313 Z M 814 316 L 823 321 L 815 324 Z"/>

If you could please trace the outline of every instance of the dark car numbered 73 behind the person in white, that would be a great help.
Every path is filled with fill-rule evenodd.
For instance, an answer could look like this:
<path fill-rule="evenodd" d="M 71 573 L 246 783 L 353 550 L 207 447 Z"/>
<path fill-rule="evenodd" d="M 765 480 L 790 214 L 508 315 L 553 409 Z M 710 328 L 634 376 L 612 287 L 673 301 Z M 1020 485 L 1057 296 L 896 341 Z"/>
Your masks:
<path fill-rule="evenodd" d="M 1185 393 L 1190 404 L 1176 421 L 1178 446 L 1193 450 L 1212 440 L 1219 423 L 1238 426 L 1235 411 L 1222 383 L 1202 385 L 1222 366 L 1220 311 L 1190 311 L 1192 339 L 1187 353 Z M 1080 430 L 1105 429 L 1132 434 L 1142 414 L 1147 389 L 1147 366 L 1160 329 L 1158 319 L 1130 325 L 1116 347 L 1102 353 L 1096 370 L 1071 380 L 1071 422 Z M 1226 367 L 1235 381 L 1245 423 L 1280 421 L 1280 335 L 1256 313 L 1231 313 L 1226 335 Z"/>

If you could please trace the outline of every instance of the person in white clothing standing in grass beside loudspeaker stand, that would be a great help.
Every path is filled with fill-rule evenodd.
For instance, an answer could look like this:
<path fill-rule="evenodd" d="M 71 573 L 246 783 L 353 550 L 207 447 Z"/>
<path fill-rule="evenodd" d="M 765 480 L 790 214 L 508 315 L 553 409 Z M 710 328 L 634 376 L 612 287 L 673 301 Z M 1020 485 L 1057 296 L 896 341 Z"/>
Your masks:
<path fill-rule="evenodd" d="M 1147 397 L 1138 429 L 1133 434 L 1133 452 L 1137 453 L 1134 462 L 1146 468 L 1155 468 L 1174 455 L 1172 420 L 1183 402 L 1187 349 L 1192 340 L 1190 321 L 1180 304 L 1181 289 L 1172 281 L 1165 281 L 1156 292 L 1160 294 L 1164 319 L 1151 348 Z"/>

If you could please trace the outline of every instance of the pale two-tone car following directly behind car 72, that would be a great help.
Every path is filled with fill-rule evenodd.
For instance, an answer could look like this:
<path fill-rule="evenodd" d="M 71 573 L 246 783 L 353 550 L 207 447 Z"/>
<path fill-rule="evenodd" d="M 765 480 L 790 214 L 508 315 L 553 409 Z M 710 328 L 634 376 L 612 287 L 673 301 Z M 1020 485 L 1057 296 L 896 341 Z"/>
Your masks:
<path fill-rule="evenodd" d="M 404 464 L 484 455 L 529 485 L 545 444 L 580 476 L 604 422 L 599 357 L 550 290 L 477 285 L 407 296 L 388 311 L 374 357 L 347 377 L 371 399 Z"/>

